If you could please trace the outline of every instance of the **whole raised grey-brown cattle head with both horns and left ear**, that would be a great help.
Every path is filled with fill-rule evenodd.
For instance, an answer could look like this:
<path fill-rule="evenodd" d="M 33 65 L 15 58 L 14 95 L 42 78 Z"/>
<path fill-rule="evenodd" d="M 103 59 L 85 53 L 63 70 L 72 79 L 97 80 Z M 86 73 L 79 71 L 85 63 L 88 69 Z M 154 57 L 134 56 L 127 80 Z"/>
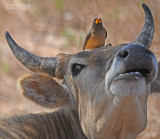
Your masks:
<path fill-rule="evenodd" d="M 154 21 L 142 6 L 145 24 L 140 35 L 116 47 L 44 58 L 18 46 L 7 32 L 15 57 L 36 72 L 20 79 L 23 95 L 46 107 L 75 111 L 88 138 L 136 138 L 147 125 L 147 98 L 158 74 L 149 50 Z M 62 85 L 52 77 L 63 79 Z"/>

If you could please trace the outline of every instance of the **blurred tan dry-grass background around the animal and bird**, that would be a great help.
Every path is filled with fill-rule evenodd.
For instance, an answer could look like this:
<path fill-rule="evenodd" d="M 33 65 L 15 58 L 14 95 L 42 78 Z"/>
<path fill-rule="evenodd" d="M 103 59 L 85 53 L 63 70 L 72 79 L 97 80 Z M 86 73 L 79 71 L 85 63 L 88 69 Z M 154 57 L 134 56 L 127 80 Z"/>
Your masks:
<path fill-rule="evenodd" d="M 9 31 L 24 49 L 39 56 L 77 53 L 95 17 L 101 17 L 116 46 L 133 41 L 141 32 L 146 3 L 154 16 L 151 50 L 160 60 L 160 0 L 0 0 L 0 116 L 49 111 L 24 99 L 19 76 L 29 73 L 13 56 L 4 33 Z M 148 125 L 138 139 L 160 138 L 160 95 L 148 99 Z"/>

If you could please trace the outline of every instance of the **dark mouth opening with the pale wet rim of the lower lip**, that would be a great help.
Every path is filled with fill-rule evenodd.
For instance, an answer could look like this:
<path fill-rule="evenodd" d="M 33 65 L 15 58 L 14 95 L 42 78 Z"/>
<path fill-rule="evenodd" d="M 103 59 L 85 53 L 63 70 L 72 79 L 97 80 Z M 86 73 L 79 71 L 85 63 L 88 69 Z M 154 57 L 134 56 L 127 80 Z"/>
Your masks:
<path fill-rule="evenodd" d="M 116 80 L 122 80 L 122 79 L 135 79 L 138 80 L 139 78 L 147 78 L 148 75 L 151 73 L 151 70 L 146 68 L 135 68 L 127 70 L 123 73 L 120 73 L 117 77 L 114 78 L 114 81 Z"/>

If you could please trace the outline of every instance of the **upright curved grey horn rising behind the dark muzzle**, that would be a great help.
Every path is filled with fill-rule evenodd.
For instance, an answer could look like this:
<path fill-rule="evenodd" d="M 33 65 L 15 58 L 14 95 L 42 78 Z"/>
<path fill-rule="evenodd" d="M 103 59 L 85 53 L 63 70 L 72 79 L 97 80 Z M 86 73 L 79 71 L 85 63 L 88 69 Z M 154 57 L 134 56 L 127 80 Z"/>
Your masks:
<path fill-rule="evenodd" d="M 134 41 L 137 44 L 143 44 L 147 48 L 150 47 L 153 35 L 154 35 L 154 21 L 153 16 L 146 4 L 142 4 L 142 7 L 145 12 L 145 24 L 143 26 L 142 32 L 138 36 L 138 38 Z"/>

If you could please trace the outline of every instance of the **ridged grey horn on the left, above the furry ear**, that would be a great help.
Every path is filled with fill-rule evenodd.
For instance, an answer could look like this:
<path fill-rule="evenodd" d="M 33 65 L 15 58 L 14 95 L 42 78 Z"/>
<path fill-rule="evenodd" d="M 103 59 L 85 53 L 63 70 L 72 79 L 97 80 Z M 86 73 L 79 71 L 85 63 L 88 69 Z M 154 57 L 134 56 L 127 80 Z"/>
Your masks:
<path fill-rule="evenodd" d="M 36 56 L 18 46 L 8 32 L 5 35 L 13 54 L 25 67 L 33 72 L 46 73 L 55 77 L 55 70 L 58 64 L 57 58 Z"/>

